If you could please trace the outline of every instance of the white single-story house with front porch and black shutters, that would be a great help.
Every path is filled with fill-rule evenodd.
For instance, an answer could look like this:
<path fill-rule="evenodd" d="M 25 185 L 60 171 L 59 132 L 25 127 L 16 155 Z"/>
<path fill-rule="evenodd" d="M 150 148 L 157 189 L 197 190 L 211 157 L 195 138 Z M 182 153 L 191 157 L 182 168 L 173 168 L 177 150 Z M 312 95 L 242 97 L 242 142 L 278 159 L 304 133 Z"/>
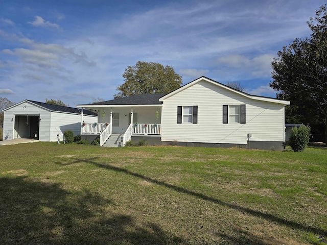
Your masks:
<path fill-rule="evenodd" d="M 168 94 L 78 106 L 98 110 L 101 132 L 85 125 L 81 134 L 99 133 L 101 145 L 108 139 L 110 146 L 124 146 L 130 139 L 144 138 L 156 144 L 283 150 L 285 106 L 289 104 L 201 77 Z"/>

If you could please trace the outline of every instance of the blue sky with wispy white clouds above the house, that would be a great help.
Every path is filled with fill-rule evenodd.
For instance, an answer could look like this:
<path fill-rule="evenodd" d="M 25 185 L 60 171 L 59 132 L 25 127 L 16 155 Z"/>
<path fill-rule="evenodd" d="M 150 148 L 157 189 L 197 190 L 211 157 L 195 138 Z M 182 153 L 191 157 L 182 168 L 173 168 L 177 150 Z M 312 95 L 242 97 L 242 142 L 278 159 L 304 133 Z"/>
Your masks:
<path fill-rule="evenodd" d="M 310 36 L 323 0 L 0 0 L 0 97 L 113 98 L 137 61 L 170 65 L 183 84 L 206 76 L 275 97 L 271 61 Z"/>

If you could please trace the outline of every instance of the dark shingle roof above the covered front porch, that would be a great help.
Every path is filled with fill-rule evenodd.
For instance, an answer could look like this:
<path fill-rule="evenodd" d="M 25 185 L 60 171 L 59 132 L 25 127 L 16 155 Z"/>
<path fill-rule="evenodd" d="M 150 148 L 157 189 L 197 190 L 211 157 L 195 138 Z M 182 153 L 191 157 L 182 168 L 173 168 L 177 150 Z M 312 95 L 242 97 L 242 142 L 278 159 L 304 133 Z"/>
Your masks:
<path fill-rule="evenodd" d="M 93 103 L 91 105 L 161 105 L 159 98 L 167 93 L 136 94 L 110 101 Z"/>

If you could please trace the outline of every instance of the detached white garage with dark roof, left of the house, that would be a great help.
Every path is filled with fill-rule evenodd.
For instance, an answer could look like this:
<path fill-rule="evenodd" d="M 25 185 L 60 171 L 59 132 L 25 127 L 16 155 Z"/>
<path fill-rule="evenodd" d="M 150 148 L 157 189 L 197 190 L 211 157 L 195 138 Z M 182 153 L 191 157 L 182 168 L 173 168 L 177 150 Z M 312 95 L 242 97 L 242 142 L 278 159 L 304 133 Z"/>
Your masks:
<path fill-rule="evenodd" d="M 73 107 L 52 105 L 25 100 L 4 111 L 3 139 L 35 138 L 40 141 L 62 140 L 65 130 L 74 135 L 81 131 L 80 110 Z M 84 111 L 85 122 L 97 121 L 97 114 Z"/>

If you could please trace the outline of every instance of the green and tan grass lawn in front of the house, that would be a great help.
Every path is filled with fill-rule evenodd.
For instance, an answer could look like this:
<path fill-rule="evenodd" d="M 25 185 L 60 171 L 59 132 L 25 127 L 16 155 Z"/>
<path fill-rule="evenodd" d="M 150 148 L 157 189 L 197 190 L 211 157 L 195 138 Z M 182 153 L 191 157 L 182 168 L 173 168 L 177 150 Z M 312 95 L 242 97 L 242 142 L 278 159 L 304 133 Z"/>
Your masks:
<path fill-rule="evenodd" d="M 38 142 L 0 159 L 0 244 L 327 243 L 327 149 Z"/>

